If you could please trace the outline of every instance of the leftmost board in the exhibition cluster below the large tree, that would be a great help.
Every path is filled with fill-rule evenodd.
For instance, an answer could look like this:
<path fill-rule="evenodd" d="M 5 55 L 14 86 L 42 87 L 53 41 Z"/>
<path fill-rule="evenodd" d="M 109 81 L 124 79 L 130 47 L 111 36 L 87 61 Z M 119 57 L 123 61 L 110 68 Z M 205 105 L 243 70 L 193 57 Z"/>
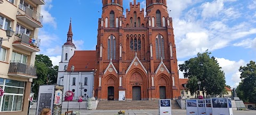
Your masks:
<path fill-rule="evenodd" d="M 197 115 L 197 100 L 186 100 L 187 115 Z"/>

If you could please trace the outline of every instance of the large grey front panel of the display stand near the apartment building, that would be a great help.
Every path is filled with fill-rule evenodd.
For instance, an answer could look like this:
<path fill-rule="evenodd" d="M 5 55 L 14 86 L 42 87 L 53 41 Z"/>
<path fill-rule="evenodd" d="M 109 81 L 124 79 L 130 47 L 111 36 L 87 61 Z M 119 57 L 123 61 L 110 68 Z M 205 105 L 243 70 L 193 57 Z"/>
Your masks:
<path fill-rule="evenodd" d="M 36 114 L 39 115 L 44 108 L 53 110 L 54 85 L 39 86 Z"/>

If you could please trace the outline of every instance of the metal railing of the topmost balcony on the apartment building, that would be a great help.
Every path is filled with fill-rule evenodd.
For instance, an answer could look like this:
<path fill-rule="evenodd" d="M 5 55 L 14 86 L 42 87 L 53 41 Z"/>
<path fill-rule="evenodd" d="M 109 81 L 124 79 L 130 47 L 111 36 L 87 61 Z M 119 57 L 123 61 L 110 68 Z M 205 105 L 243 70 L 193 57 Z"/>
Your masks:
<path fill-rule="evenodd" d="M 27 6 L 19 5 L 18 14 L 17 15 L 26 15 L 30 19 L 33 19 L 39 23 L 43 22 L 43 15 L 38 13 L 37 11 L 31 10 Z"/>

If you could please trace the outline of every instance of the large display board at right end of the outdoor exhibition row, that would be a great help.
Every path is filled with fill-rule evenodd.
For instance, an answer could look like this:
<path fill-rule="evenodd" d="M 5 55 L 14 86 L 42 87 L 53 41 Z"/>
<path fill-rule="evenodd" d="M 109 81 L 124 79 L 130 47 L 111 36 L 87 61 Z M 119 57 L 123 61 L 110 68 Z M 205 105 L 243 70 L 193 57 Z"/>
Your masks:
<path fill-rule="evenodd" d="M 212 114 L 233 115 L 231 98 L 211 98 Z"/>

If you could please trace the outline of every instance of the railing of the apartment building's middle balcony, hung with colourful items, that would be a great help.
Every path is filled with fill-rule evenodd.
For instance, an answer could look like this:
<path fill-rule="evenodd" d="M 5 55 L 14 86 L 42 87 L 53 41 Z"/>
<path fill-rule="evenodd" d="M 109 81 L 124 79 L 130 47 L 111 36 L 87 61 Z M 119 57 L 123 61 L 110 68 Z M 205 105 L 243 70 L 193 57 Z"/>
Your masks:
<path fill-rule="evenodd" d="M 25 43 L 31 47 L 39 49 L 41 40 L 35 36 L 26 34 L 24 31 L 18 31 L 14 34 L 14 42 L 13 43 Z"/>

